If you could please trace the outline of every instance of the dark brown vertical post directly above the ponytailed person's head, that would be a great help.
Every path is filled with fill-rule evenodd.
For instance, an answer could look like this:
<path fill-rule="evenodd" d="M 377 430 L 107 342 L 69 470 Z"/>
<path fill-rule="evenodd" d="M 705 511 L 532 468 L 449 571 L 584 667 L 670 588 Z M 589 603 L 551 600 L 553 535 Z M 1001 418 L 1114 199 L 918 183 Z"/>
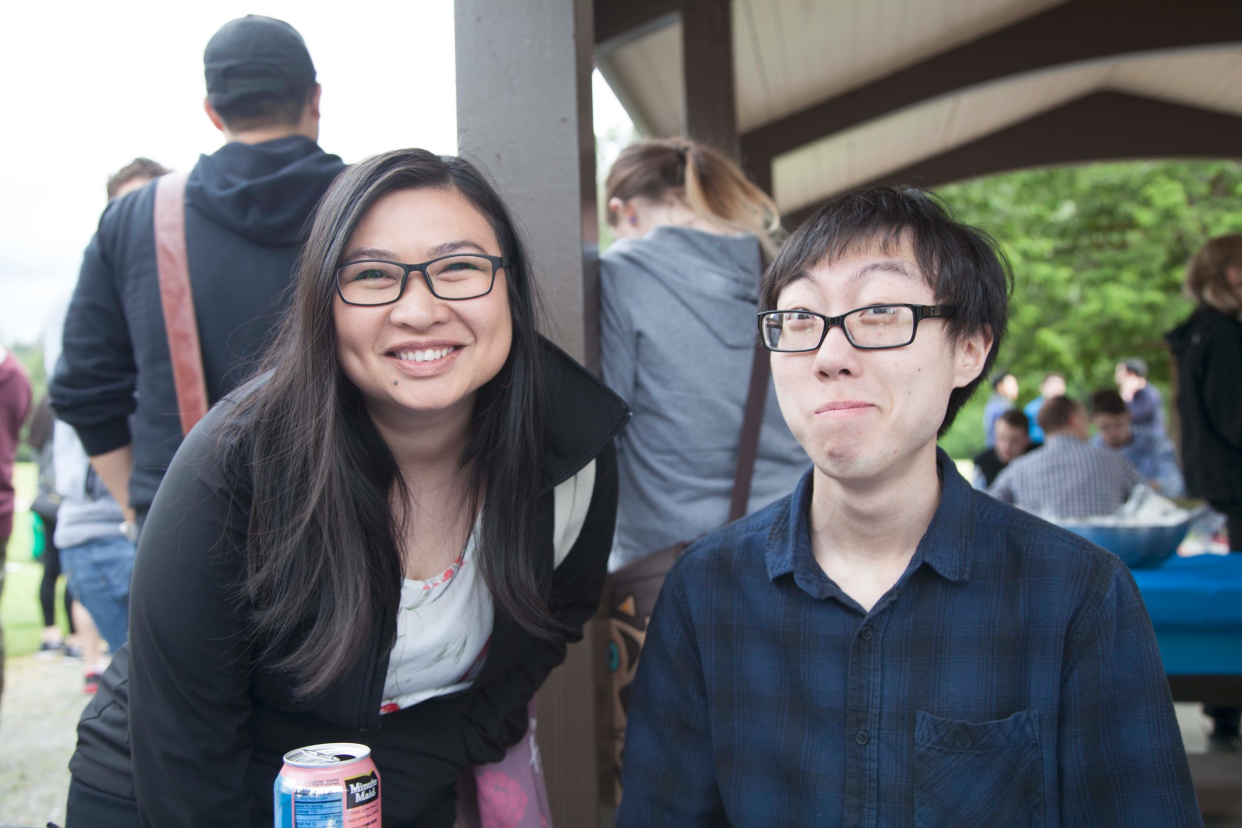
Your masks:
<path fill-rule="evenodd" d="M 729 0 L 682 0 L 686 134 L 738 159 Z"/>

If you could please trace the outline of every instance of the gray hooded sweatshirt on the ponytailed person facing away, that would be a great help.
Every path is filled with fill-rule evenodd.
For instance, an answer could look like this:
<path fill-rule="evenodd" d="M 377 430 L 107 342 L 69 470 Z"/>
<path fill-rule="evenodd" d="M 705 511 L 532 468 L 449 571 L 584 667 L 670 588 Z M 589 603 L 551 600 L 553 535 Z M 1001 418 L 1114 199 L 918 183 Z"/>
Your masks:
<path fill-rule="evenodd" d="M 601 254 L 604 381 L 633 410 L 617 442 L 611 569 L 728 520 L 759 276 L 750 235 L 660 227 Z M 769 385 L 749 511 L 792 492 L 807 468 Z"/>

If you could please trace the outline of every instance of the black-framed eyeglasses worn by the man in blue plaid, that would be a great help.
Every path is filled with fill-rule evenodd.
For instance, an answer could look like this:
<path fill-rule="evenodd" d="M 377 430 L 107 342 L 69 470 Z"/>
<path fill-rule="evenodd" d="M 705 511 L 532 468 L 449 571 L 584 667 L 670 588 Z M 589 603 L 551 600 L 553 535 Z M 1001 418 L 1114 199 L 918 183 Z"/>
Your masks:
<path fill-rule="evenodd" d="M 817 351 L 828 331 L 840 325 L 851 345 L 861 350 L 904 348 L 914 341 L 920 319 L 951 317 L 946 304 L 877 304 L 840 317 L 811 310 L 765 310 L 759 314 L 764 348 L 781 354 Z"/>

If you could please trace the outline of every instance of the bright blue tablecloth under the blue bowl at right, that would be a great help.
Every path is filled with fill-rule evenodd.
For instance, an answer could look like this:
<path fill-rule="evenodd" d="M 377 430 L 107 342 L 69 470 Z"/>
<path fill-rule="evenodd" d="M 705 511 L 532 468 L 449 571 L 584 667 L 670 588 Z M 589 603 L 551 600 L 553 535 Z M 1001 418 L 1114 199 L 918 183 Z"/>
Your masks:
<path fill-rule="evenodd" d="M 1170 675 L 1242 675 L 1242 555 L 1134 570 Z"/>

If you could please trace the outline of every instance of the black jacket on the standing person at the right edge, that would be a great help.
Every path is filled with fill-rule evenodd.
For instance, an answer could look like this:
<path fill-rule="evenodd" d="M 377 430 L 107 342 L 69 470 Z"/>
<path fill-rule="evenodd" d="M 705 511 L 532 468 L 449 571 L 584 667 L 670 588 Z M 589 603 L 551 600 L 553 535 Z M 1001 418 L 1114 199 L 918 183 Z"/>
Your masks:
<path fill-rule="evenodd" d="M 1242 322 L 1199 308 L 1165 339 L 1177 360 L 1186 494 L 1242 506 Z"/>

